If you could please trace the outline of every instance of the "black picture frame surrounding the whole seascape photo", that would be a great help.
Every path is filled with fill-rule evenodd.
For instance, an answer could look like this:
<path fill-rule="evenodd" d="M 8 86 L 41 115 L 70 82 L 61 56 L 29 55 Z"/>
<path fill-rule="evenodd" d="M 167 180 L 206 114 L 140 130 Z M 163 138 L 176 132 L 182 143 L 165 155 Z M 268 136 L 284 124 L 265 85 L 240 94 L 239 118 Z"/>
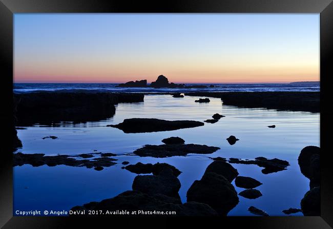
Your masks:
<path fill-rule="evenodd" d="M 3 137 L 0 158 L 0 226 L 3 228 L 64 228 L 72 224 L 115 226 L 115 218 L 95 217 L 20 217 L 13 216 L 12 173 L 12 93 L 13 93 L 13 14 L 14 13 L 320 13 L 320 147 L 321 157 L 321 216 L 319 217 L 221 217 L 177 218 L 184 223 L 225 227 L 226 225 L 254 228 L 331 228 L 333 226 L 333 166 L 329 160 L 332 122 L 330 117 L 330 78 L 333 56 L 333 3 L 332 0 L 178 0 L 163 2 L 94 1 L 94 0 L 0 0 L 0 54 L 1 54 L 1 117 Z M 176 218 L 117 218 L 117 226 L 176 225 Z M 108 222 L 102 222 L 108 221 Z M 109 224 L 108 224 L 109 223 Z"/>

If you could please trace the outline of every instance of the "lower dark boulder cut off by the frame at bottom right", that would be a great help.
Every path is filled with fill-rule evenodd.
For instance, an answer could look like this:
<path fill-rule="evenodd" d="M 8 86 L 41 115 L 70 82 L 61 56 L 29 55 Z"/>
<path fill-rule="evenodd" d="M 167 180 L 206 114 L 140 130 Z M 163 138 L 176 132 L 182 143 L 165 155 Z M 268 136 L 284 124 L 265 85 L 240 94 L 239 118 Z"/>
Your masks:
<path fill-rule="evenodd" d="M 301 200 L 301 209 L 304 216 L 320 216 L 320 187 L 305 193 Z"/>

